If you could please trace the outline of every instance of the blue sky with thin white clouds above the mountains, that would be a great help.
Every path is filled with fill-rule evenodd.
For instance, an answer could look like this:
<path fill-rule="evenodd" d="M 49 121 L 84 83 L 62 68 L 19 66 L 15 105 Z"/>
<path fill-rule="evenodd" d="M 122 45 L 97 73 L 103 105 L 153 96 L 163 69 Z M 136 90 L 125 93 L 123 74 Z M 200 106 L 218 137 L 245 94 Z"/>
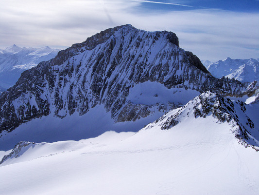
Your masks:
<path fill-rule="evenodd" d="M 259 0 L 1 0 L 0 49 L 65 49 L 107 28 L 172 31 L 202 60 L 259 59 Z"/>

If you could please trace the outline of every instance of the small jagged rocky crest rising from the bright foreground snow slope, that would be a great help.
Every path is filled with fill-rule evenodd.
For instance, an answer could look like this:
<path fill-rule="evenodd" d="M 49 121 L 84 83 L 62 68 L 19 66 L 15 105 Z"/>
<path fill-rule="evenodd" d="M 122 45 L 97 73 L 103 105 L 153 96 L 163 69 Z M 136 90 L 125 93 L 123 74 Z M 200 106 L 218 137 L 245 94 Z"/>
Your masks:
<path fill-rule="evenodd" d="M 249 118 L 247 106 L 240 100 L 232 101 L 229 98 L 224 98 L 217 93 L 208 91 L 190 100 L 175 114 L 160 117 L 146 126 L 145 129 L 159 125 L 161 130 L 168 130 L 186 117 L 205 118 L 212 115 L 220 123 L 228 122 L 231 132 L 242 143 L 245 142 L 248 145 L 252 145 L 252 147 L 259 146 L 259 127 Z M 255 149 L 258 150 L 257 148 Z"/>

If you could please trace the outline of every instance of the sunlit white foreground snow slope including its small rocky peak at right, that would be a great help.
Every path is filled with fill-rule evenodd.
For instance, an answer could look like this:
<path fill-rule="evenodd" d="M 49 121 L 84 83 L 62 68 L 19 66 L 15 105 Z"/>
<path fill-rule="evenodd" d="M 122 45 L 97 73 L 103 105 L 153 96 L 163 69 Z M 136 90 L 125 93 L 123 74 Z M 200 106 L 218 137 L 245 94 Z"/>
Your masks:
<path fill-rule="evenodd" d="M 205 92 L 137 133 L 21 141 L 2 153 L 0 194 L 257 195 L 258 109 Z"/>

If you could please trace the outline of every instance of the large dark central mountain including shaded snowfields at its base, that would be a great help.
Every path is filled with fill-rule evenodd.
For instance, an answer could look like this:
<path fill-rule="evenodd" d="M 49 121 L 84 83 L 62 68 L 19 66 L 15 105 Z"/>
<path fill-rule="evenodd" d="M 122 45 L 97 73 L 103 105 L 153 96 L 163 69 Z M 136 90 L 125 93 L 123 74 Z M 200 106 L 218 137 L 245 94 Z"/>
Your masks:
<path fill-rule="evenodd" d="M 138 131 L 205 91 L 251 97 L 258 88 L 214 78 L 172 32 L 122 25 L 24 71 L 2 93 L 0 148 Z"/>

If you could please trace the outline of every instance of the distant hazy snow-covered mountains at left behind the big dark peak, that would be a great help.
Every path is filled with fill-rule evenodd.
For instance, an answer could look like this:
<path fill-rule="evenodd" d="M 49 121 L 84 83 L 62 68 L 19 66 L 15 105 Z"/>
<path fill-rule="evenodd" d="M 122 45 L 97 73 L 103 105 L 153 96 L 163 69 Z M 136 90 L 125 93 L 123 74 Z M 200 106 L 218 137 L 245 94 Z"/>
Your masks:
<path fill-rule="evenodd" d="M 54 58 L 58 51 L 50 47 L 21 48 L 17 45 L 0 50 L 0 92 L 13 86 L 23 71 Z"/>

